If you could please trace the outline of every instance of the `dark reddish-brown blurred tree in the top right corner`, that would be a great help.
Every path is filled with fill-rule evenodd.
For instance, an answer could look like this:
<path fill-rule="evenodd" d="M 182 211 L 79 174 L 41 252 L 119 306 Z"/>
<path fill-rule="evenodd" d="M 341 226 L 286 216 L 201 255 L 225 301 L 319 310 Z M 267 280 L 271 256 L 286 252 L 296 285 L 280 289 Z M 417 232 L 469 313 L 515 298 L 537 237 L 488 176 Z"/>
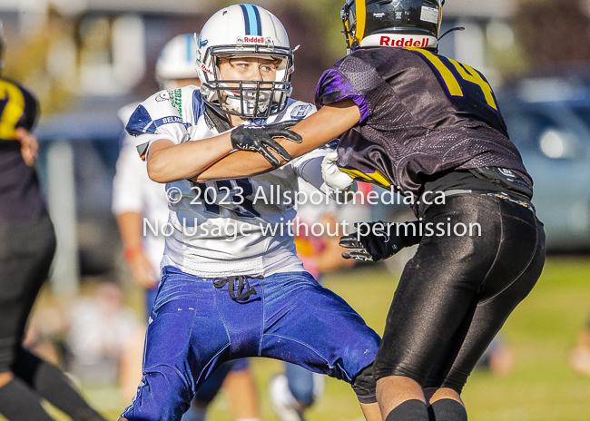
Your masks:
<path fill-rule="evenodd" d="M 521 0 L 514 26 L 533 69 L 590 62 L 590 17 L 582 0 Z"/>

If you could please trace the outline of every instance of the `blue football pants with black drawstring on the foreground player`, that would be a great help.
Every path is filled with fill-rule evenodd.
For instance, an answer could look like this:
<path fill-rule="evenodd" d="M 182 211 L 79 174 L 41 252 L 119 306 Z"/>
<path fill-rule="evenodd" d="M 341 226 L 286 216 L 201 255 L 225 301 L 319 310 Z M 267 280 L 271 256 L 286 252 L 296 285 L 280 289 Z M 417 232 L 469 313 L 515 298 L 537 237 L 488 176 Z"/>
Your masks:
<path fill-rule="evenodd" d="M 280 359 L 349 383 L 375 359 L 379 335 L 308 272 L 248 280 L 257 294 L 238 302 L 227 285 L 162 270 L 143 379 L 124 417 L 179 420 L 206 378 L 235 358 Z"/>

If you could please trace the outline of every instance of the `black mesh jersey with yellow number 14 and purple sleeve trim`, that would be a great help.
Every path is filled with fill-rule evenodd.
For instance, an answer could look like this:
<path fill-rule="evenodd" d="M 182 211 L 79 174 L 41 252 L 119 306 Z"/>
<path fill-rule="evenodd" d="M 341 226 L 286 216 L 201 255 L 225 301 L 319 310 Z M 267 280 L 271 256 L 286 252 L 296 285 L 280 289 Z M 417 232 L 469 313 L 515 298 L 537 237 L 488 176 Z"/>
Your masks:
<path fill-rule="evenodd" d="M 340 137 L 339 166 L 358 180 L 418 191 L 427 176 L 494 166 L 532 187 L 481 73 L 421 49 L 359 49 L 323 73 L 318 107 L 352 99 L 360 122 Z"/>

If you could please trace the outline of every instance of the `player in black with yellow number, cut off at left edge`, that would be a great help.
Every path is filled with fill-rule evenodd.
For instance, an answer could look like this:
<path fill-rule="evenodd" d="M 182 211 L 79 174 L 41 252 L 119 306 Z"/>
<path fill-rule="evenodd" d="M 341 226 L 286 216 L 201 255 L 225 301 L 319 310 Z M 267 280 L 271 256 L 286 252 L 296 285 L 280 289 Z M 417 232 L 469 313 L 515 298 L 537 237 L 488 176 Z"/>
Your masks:
<path fill-rule="evenodd" d="M 0 22 L 0 73 L 5 41 Z M 46 399 L 74 421 L 105 421 L 54 365 L 22 346 L 26 321 L 54 257 L 54 226 L 34 159 L 34 96 L 0 77 L 0 414 L 51 421 Z"/>

